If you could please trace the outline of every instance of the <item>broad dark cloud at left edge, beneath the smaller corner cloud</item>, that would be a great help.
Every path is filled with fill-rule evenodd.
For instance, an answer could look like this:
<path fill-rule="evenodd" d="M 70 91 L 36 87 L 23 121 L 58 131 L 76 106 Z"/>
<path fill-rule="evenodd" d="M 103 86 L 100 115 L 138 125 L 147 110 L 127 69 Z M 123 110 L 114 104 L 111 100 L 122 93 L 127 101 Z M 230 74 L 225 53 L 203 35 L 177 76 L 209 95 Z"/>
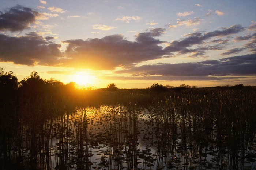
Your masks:
<path fill-rule="evenodd" d="M 58 57 L 62 56 L 60 47 L 60 44 L 47 42 L 35 32 L 20 37 L 0 34 L 0 61 L 54 66 L 59 64 Z"/>

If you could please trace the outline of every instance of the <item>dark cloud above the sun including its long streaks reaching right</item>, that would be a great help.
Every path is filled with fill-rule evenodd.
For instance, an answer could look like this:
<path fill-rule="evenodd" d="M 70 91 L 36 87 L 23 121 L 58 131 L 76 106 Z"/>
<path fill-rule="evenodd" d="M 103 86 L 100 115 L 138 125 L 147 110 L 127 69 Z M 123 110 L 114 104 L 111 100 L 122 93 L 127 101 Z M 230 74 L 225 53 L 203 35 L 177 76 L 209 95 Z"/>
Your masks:
<path fill-rule="evenodd" d="M 128 68 L 136 63 L 147 60 L 153 60 L 163 57 L 170 57 L 173 52 L 178 54 L 192 53 L 189 57 L 197 58 L 203 56 L 206 50 L 221 50 L 223 47 L 208 46 L 195 49 L 189 49 L 195 44 L 202 44 L 211 37 L 222 37 L 238 33 L 244 30 L 241 25 L 233 25 L 229 28 L 223 28 L 221 31 L 208 33 L 188 34 L 180 41 L 173 41 L 166 48 L 159 46 L 165 41 L 156 39 L 165 33 L 165 29 L 156 28 L 149 32 L 143 32 L 136 35 L 136 41 L 128 41 L 123 35 L 110 35 L 101 39 L 87 40 L 67 40 L 66 49 L 67 59 L 61 60 L 63 66 L 90 68 L 95 70 L 113 70 L 115 67 Z"/>

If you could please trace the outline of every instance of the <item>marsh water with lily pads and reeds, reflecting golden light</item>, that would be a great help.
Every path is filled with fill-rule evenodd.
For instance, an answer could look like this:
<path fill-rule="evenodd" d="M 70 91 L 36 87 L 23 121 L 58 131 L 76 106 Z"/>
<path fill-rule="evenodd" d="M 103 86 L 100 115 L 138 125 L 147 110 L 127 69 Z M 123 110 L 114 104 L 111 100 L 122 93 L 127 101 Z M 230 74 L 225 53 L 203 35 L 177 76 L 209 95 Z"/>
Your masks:
<path fill-rule="evenodd" d="M 220 129 L 209 112 L 167 102 L 79 107 L 39 126 L 23 124 L 13 154 L 35 169 L 256 168 L 249 126 Z"/>

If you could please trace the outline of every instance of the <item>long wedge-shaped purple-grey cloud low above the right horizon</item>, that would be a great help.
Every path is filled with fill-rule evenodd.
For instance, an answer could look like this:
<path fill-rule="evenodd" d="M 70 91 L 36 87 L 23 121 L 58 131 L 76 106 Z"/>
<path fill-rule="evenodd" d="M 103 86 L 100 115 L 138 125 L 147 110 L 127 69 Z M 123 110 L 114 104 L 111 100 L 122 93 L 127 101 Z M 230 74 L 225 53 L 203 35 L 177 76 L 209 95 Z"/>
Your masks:
<path fill-rule="evenodd" d="M 197 63 L 155 64 L 133 67 L 116 73 L 129 73 L 162 76 L 227 76 L 255 75 L 256 54 L 223 58 L 219 61 L 203 61 Z"/>

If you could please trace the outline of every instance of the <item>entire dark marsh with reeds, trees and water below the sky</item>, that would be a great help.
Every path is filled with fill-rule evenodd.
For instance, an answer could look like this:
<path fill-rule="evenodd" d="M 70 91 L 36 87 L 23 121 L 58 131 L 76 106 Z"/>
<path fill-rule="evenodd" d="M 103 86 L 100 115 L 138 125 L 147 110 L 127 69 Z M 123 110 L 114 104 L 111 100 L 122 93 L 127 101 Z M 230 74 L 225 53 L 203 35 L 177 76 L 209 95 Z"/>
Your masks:
<path fill-rule="evenodd" d="M 76 89 L 0 73 L 0 169 L 256 169 L 256 88 Z"/>

